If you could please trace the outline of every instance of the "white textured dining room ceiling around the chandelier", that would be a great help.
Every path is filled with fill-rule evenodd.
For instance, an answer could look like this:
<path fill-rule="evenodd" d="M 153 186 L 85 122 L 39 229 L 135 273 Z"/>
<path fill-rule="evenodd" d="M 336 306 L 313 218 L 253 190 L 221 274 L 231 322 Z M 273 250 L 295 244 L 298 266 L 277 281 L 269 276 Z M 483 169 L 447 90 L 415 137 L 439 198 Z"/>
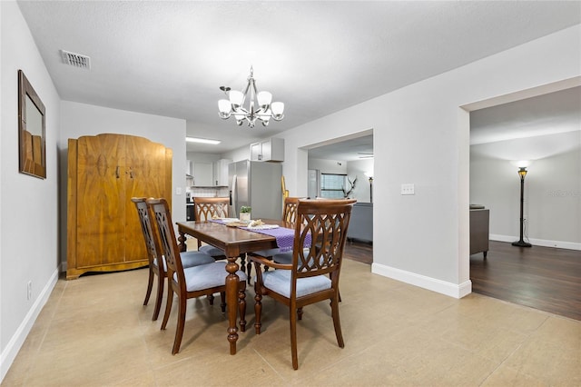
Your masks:
<path fill-rule="evenodd" d="M 581 23 L 580 2 L 19 1 L 61 98 L 188 120 L 222 153 Z M 91 57 L 64 65 L 59 50 Z M 217 113 L 219 86 L 285 103 L 268 128 Z"/>

